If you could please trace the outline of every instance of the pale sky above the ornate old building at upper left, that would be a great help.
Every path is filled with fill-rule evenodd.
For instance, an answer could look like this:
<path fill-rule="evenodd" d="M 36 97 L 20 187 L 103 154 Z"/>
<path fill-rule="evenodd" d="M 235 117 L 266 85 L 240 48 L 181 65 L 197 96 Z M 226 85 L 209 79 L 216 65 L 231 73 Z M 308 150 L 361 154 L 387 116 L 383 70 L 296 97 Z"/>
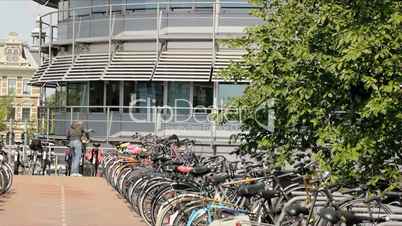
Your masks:
<path fill-rule="evenodd" d="M 55 9 L 32 0 L 0 0 L 0 39 L 5 39 L 8 33 L 14 31 L 24 42 L 31 44 L 36 18 L 51 11 Z"/>

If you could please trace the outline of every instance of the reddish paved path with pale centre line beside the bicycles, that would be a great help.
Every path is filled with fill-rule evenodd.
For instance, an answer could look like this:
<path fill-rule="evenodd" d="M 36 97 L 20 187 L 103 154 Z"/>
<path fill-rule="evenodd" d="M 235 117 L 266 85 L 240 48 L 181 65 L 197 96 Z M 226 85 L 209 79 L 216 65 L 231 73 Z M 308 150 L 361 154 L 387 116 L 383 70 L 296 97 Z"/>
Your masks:
<path fill-rule="evenodd" d="M 0 226 L 146 226 L 103 178 L 15 176 Z"/>

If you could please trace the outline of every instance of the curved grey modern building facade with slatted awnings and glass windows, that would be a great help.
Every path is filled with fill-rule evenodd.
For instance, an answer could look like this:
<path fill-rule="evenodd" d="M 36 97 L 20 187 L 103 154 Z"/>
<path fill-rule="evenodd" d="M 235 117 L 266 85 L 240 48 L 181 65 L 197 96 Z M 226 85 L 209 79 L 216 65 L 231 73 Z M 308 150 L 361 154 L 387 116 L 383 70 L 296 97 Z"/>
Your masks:
<path fill-rule="evenodd" d="M 56 10 L 38 19 L 48 38 L 32 79 L 56 90 L 56 134 L 73 119 L 108 137 L 211 134 L 211 112 L 247 86 L 219 74 L 244 54 L 225 40 L 260 23 L 246 0 L 34 1 Z"/>

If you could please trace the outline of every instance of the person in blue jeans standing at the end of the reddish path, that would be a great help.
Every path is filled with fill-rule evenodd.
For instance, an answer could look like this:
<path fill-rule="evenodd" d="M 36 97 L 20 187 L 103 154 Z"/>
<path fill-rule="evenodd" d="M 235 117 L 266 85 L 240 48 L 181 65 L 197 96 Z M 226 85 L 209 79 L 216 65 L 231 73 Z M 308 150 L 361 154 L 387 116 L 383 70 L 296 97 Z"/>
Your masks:
<path fill-rule="evenodd" d="M 84 134 L 81 121 L 74 121 L 67 131 L 67 139 L 70 141 L 72 150 L 71 176 L 82 176 L 79 173 L 80 161 L 82 155 L 81 137 Z"/>

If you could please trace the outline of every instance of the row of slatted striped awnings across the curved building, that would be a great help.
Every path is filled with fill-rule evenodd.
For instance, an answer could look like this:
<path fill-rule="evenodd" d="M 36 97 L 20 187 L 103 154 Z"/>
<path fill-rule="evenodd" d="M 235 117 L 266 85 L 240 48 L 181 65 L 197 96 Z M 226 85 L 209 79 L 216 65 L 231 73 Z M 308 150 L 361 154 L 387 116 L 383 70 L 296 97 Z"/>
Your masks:
<path fill-rule="evenodd" d="M 110 59 L 105 53 L 57 56 L 44 61 L 31 83 L 63 81 L 221 81 L 219 72 L 232 62 L 241 62 L 244 52 L 223 50 L 170 49 L 155 51 L 117 51 Z"/>

